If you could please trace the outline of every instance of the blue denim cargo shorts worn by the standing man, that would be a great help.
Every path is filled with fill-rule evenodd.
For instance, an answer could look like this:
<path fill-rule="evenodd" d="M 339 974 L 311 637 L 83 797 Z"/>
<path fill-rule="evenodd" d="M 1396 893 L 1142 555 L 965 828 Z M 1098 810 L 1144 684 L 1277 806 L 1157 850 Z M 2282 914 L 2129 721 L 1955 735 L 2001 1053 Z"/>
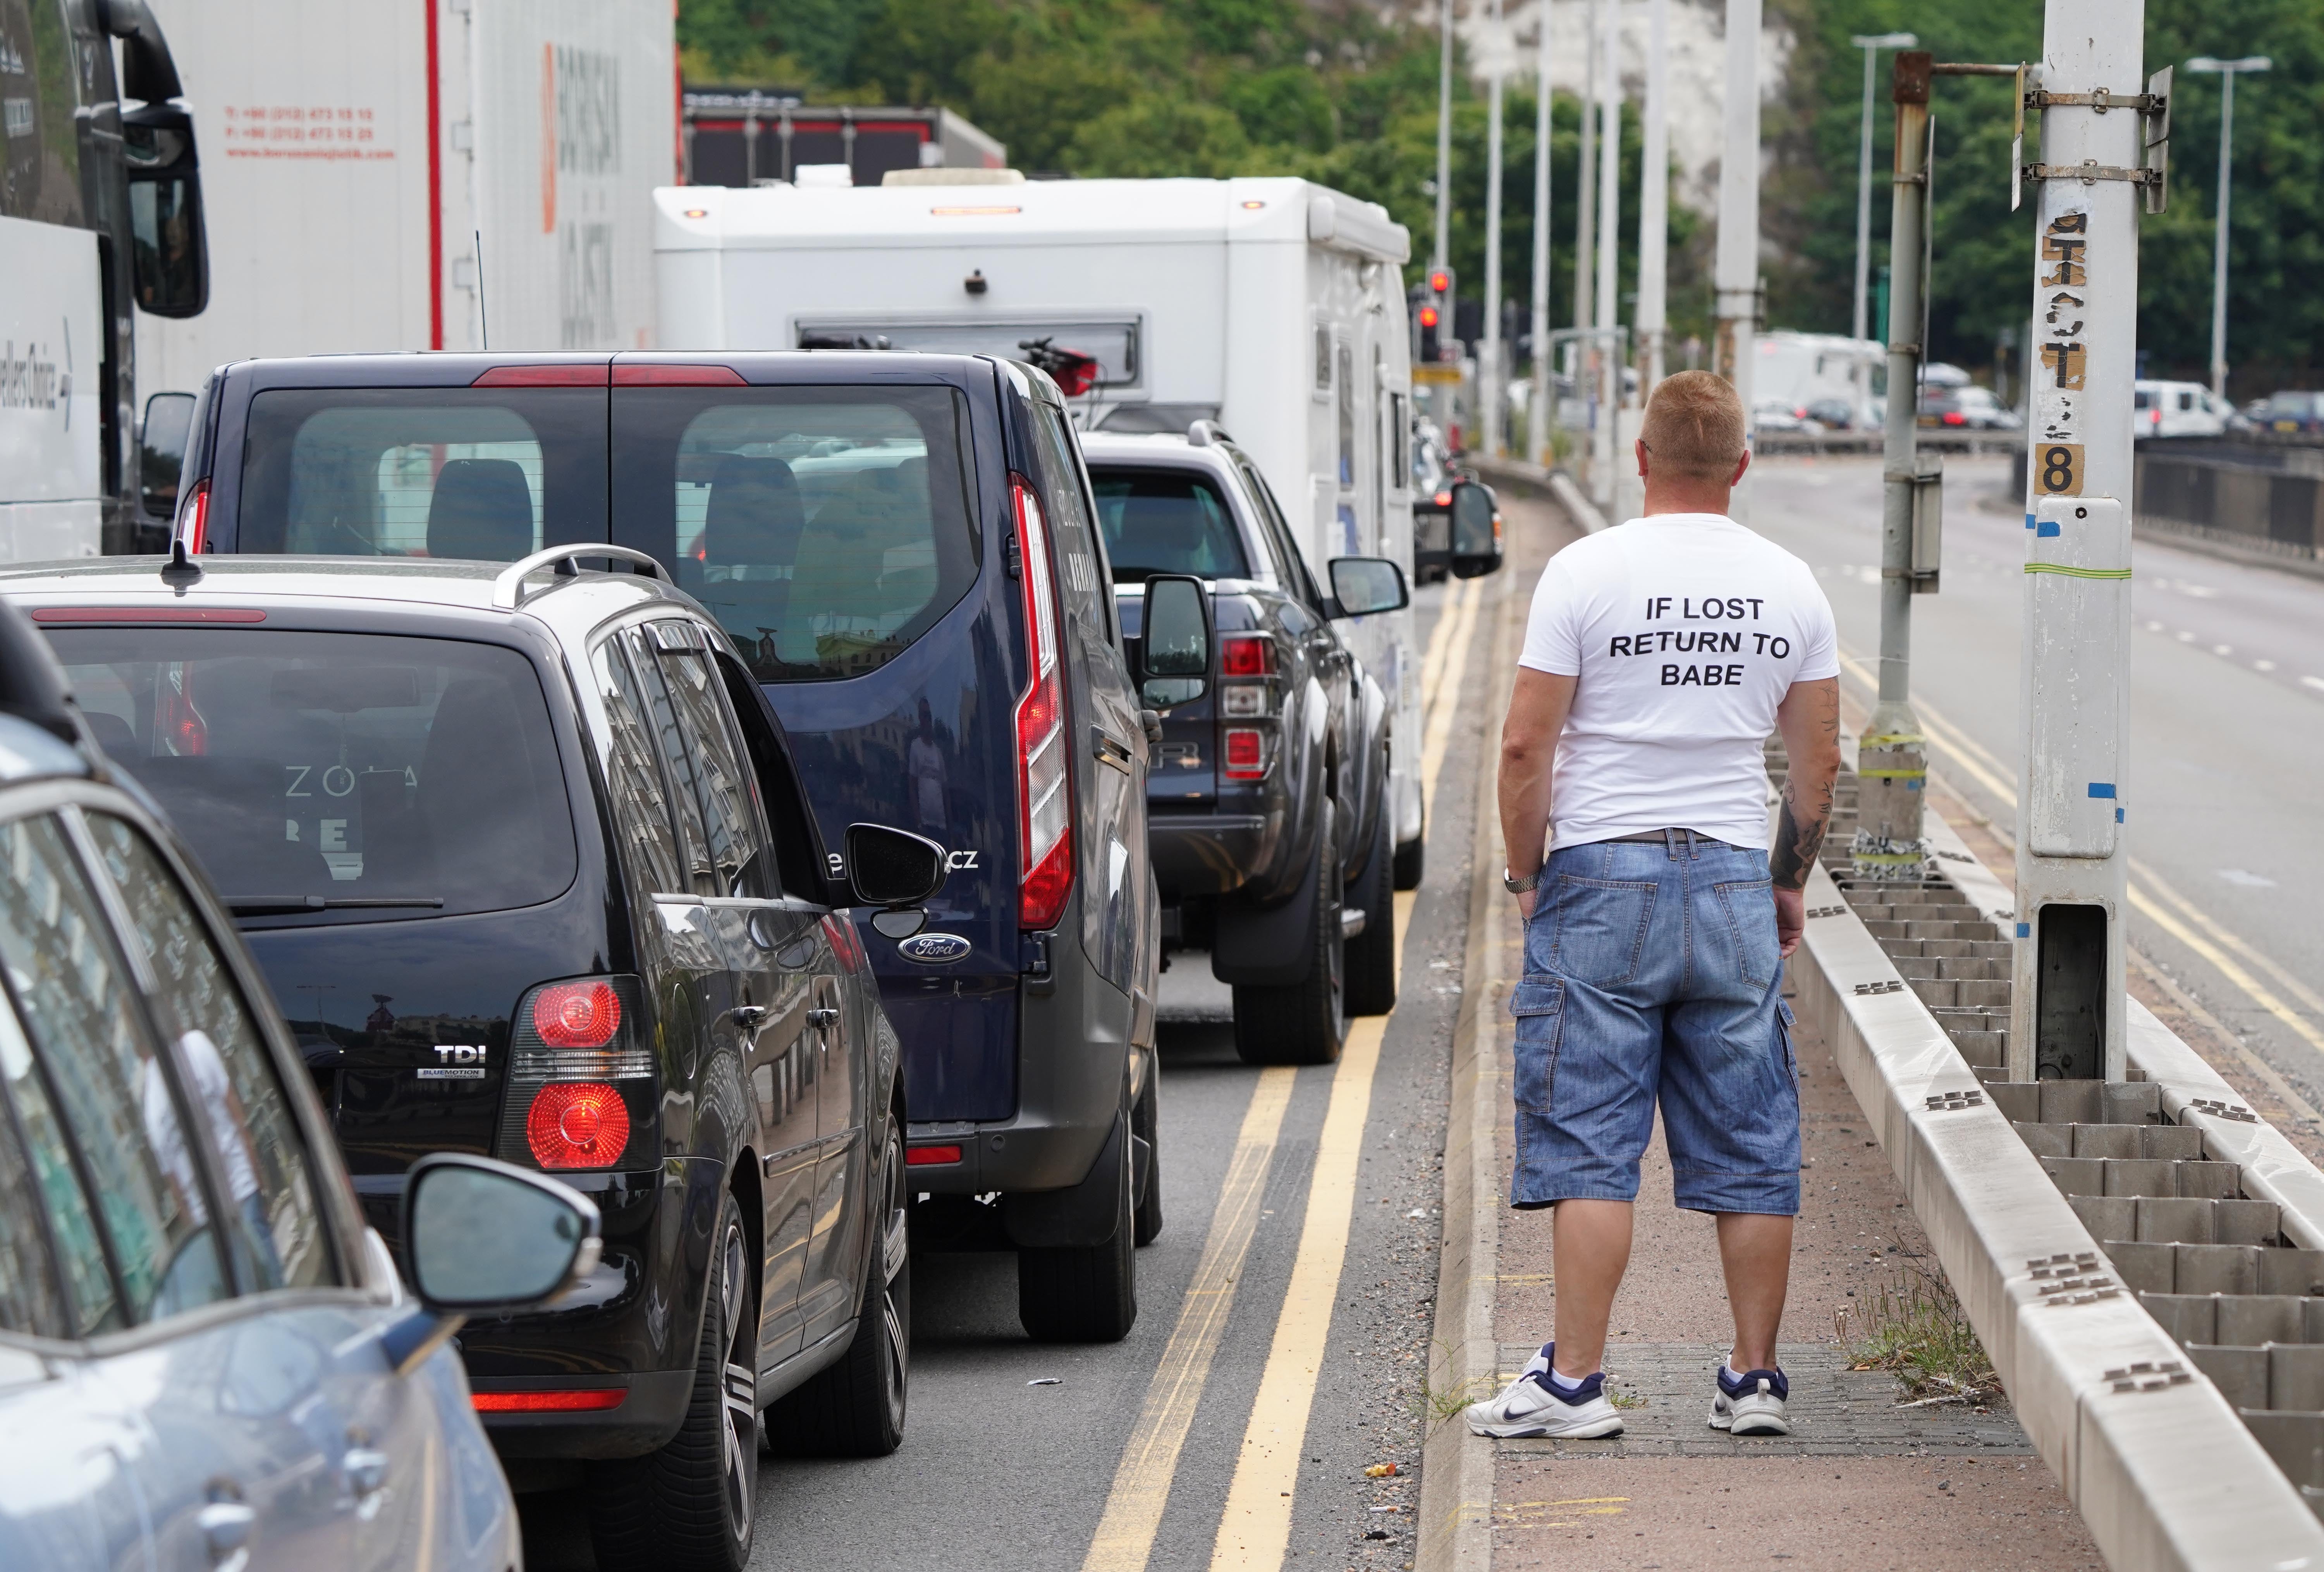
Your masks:
<path fill-rule="evenodd" d="M 1655 1102 L 1690 1212 L 1799 1214 L 1766 853 L 1669 830 L 1550 853 L 1525 926 L 1513 1207 L 1636 1200 Z"/>

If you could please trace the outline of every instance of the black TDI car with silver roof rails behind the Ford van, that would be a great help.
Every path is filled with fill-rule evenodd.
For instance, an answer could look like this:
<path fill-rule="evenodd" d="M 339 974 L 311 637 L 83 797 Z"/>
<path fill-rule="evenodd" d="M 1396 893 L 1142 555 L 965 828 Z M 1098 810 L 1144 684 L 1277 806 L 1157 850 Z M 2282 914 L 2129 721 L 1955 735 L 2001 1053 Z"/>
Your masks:
<path fill-rule="evenodd" d="M 841 888 L 758 684 L 653 572 L 116 558 L 0 593 L 223 891 L 390 1246 L 428 1153 L 597 1205 L 579 1288 L 460 1339 L 511 1481 L 586 1474 L 600 1565 L 741 1567 L 762 1412 L 902 1435 L 899 1070 L 837 907 L 911 907 L 944 849 L 858 826 Z"/>

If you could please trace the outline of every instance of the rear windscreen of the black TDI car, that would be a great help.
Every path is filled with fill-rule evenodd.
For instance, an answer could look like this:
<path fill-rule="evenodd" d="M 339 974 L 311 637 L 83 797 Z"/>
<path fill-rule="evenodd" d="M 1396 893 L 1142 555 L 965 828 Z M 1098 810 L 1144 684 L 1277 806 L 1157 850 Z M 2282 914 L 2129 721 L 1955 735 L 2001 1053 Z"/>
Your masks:
<path fill-rule="evenodd" d="M 242 628 L 49 642 L 105 753 L 230 902 L 430 916 L 528 907 L 574 879 L 548 702 L 514 649 Z"/>

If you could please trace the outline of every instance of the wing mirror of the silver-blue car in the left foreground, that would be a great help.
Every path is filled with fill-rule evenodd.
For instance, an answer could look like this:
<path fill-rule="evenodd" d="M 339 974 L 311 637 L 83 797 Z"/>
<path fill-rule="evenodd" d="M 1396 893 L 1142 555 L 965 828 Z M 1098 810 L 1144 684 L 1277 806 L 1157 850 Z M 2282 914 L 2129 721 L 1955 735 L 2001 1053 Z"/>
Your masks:
<path fill-rule="evenodd" d="M 421 1309 L 381 1332 L 409 1374 L 474 1314 L 539 1309 L 597 1270 L 597 1205 L 493 1158 L 439 1151 L 404 1179 L 404 1256 Z"/>

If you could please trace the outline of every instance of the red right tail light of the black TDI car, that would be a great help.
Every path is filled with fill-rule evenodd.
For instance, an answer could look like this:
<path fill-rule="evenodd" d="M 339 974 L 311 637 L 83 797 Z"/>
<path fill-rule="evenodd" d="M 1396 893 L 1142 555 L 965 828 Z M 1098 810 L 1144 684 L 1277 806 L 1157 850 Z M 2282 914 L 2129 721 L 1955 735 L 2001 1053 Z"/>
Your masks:
<path fill-rule="evenodd" d="M 655 1163 L 660 1077 L 639 1007 L 634 977 L 567 977 L 518 1000 L 495 1156 L 548 1170 Z"/>

